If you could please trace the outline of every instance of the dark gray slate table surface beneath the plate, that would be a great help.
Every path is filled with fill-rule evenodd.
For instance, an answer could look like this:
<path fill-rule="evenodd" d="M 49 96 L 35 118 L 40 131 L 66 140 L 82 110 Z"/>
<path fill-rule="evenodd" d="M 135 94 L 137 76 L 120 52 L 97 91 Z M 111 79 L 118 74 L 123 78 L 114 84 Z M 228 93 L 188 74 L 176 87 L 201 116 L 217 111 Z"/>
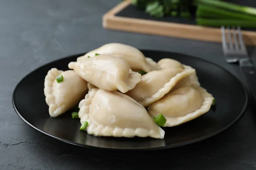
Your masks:
<path fill-rule="evenodd" d="M 22 77 L 47 62 L 109 42 L 204 58 L 245 82 L 237 65 L 225 63 L 221 44 L 105 30 L 102 15 L 119 2 L 0 0 L 0 170 L 256 169 L 252 103 L 240 122 L 217 136 L 160 152 L 106 152 L 73 146 L 33 130 L 17 116 L 12 92 Z M 255 56 L 256 49 L 249 50 Z"/>

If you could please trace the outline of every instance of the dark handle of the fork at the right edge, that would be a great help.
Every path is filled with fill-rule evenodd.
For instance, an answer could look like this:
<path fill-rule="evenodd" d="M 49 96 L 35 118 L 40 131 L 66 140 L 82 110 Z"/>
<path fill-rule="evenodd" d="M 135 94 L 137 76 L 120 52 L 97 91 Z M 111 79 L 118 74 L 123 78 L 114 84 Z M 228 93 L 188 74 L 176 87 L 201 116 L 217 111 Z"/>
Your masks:
<path fill-rule="evenodd" d="M 256 68 L 253 65 L 240 65 L 250 92 L 256 101 Z"/>

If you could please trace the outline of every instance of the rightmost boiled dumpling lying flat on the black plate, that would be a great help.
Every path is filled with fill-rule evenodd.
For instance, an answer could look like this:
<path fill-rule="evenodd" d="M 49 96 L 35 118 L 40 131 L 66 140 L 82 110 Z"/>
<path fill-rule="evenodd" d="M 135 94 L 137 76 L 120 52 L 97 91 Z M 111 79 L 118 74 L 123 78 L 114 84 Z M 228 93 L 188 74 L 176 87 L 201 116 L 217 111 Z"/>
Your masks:
<path fill-rule="evenodd" d="M 151 117 L 162 113 L 165 127 L 177 126 L 209 111 L 213 97 L 198 85 L 183 86 L 148 107 Z"/>

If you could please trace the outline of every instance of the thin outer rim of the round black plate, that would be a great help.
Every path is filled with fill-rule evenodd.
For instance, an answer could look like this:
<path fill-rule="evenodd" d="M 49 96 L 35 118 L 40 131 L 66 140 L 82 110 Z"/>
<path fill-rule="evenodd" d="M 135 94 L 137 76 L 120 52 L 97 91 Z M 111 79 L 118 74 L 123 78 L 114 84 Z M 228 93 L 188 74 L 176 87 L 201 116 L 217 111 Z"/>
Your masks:
<path fill-rule="evenodd" d="M 20 113 L 17 111 L 17 108 L 15 107 L 14 96 L 15 96 L 15 92 L 16 92 L 17 87 L 18 87 L 18 85 L 20 84 L 20 82 L 22 82 L 23 79 L 25 79 L 29 74 L 32 74 L 34 71 L 36 71 L 36 70 L 38 70 L 38 69 L 40 69 L 40 68 L 42 68 L 42 67 L 44 67 L 44 66 L 46 66 L 46 65 L 48 65 L 48 64 L 50 64 L 50 63 L 52 63 L 52 62 L 57 62 L 57 61 L 60 61 L 60 60 L 62 60 L 62 59 L 64 59 L 64 58 L 69 58 L 69 57 L 73 57 L 73 56 L 82 56 L 82 55 L 84 55 L 84 54 L 87 53 L 87 52 L 85 52 L 85 53 L 73 54 L 73 55 L 69 55 L 69 56 L 66 56 L 66 57 L 62 57 L 62 58 L 60 58 L 60 59 L 53 60 L 53 61 L 51 61 L 51 62 L 48 62 L 48 63 L 44 64 L 44 65 L 41 65 L 41 66 L 38 67 L 38 68 L 35 68 L 33 71 L 31 71 L 31 72 L 29 72 L 28 74 L 26 74 L 26 76 L 24 76 L 24 77 L 17 83 L 17 85 L 15 86 L 15 89 L 14 89 L 14 91 L 13 91 L 13 93 L 12 93 L 12 105 L 13 105 L 13 107 L 14 107 L 14 109 L 15 109 L 15 112 L 16 112 L 17 115 L 20 117 L 20 119 L 23 120 L 23 122 L 25 122 L 27 125 L 29 125 L 29 127 L 32 127 L 33 129 L 35 129 L 35 130 L 37 130 L 37 131 L 43 133 L 43 134 L 46 135 L 46 136 L 50 136 L 50 137 L 52 137 L 53 139 L 57 139 L 57 140 L 59 140 L 59 141 L 61 141 L 61 142 L 65 142 L 65 143 L 68 143 L 68 144 L 73 144 L 73 145 L 80 146 L 80 147 L 95 148 L 95 149 L 98 149 L 98 150 L 114 150 L 114 151 L 116 151 L 116 150 L 117 150 L 117 151 L 129 151 L 129 150 L 131 150 L 131 151 L 133 151 L 133 150 L 141 150 L 141 151 L 146 151 L 146 150 L 163 150 L 163 149 L 169 149 L 169 148 L 174 148 L 174 147 L 180 147 L 180 146 L 184 146 L 184 145 L 187 145 L 187 144 L 193 144 L 193 143 L 195 143 L 195 142 L 200 142 L 200 141 L 202 141 L 202 140 L 204 140 L 204 139 L 208 139 L 208 138 L 210 138 L 210 137 L 212 137 L 212 136 L 217 135 L 218 133 L 223 132 L 223 131 L 226 130 L 227 128 L 229 128 L 229 127 L 231 127 L 232 125 L 234 125 L 236 122 L 239 122 L 239 120 L 244 116 L 244 114 L 245 114 L 245 112 L 246 112 L 246 110 L 247 110 L 247 105 L 248 105 L 248 92 L 247 92 L 247 90 L 246 90 L 244 84 L 243 84 L 233 73 L 231 73 L 230 71 L 228 71 L 226 68 L 223 68 L 223 67 L 221 67 L 221 66 L 215 64 L 214 62 L 210 62 L 210 61 L 208 61 L 208 60 L 206 60 L 206 59 L 201 59 L 201 58 L 195 57 L 195 56 L 193 56 L 193 55 L 188 55 L 188 54 L 183 54 L 183 53 L 176 53 L 176 52 L 172 52 L 172 51 L 164 51 L 164 50 L 148 50 L 148 49 L 139 49 L 139 50 L 142 51 L 142 52 L 143 52 L 143 51 L 149 51 L 149 52 L 150 52 L 150 51 L 154 51 L 154 52 L 166 52 L 166 53 L 172 53 L 173 55 L 183 55 L 183 56 L 186 56 L 186 57 L 192 57 L 193 59 L 202 60 L 202 61 L 204 61 L 204 62 L 208 62 L 209 64 L 215 65 L 216 67 L 223 69 L 224 71 L 228 72 L 231 76 L 233 76 L 235 79 L 237 79 L 238 82 L 239 82 L 239 83 L 241 84 L 241 86 L 243 87 L 244 94 L 245 94 L 245 104 L 244 104 L 244 108 L 242 109 L 242 111 L 241 111 L 241 113 L 239 114 L 239 116 L 238 116 L 235 120 L 233 120 L 233 122 L 231 122 L 229 125 L 223 127 L 222 129 L 220 129 L 220 130 L 218 130 L 218 131 L 216 131 L 216 132 L 214 132 L 214 133 L 211 133 L 211 134 L 209 134 L 209 135 L 207 135 L 207 136 L 204 136 L 204 137 L 201 137 L 201 138 L 198 138 L 198 139 L 194 139 L 194 140 L 189 141 L 189 142 L 183 142 L 183 143 L 180 143 L 180 144 L 173 144 L 173 145 L 162 146 L 162 147 L 152 147 L 152 148 L 134 148 L 134 149 L 130 149 L 130 148 L 108 148 L 108 147 L 91 146 L 91 145 L 88 145 L 88 144 L 78 144 L 78 143 L 76 143 L 76 142 L 70 142 L 70 141 L 68 141 L 68 140 L 61 139 L 61 138 L 56 137 L 56 136 L 54 136 L 54 135 L 52 135 L 52 134 L 49 134 L 49 133 L 47 133 L 47 132 L 45 132 L 45 131 L 39 129 L 38 127 L 35 127 L 35 126 L 31 125 L 29 122 L 27 122 L 26 119 L 24 119 L 24 118 L 20 115 Z"/>

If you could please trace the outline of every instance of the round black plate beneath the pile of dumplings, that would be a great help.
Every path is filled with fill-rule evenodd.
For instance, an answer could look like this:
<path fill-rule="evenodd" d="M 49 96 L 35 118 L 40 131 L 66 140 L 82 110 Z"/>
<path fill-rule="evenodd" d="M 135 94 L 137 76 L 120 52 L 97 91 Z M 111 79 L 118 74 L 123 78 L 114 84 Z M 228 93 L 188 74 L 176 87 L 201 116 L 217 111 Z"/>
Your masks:
<path fill-rule="evenodd" d="M 201 86 L 216 99 L 216 106 L 203 116 L 177 127 L 166 127 L 164 139 L 95 137 L 79 131 L 79 119 L 70 113 L 51 118 L 44 96 L 44 77 L 51 68 L 68 70 L 68 63 L 82 54 L 51 62 L 23 78 L 13 92 L 18 116 L 34 129 L 55 139 L 84 147 L 105 149 L 152 150 L 178 147 L 198 142 L 239 121 L 247 107 L 247 92 L 241 82 L 227 70 L 203 59 L 164 51 L 142 50 L 155 61 L 172 58 L 196 69 Z"/>

